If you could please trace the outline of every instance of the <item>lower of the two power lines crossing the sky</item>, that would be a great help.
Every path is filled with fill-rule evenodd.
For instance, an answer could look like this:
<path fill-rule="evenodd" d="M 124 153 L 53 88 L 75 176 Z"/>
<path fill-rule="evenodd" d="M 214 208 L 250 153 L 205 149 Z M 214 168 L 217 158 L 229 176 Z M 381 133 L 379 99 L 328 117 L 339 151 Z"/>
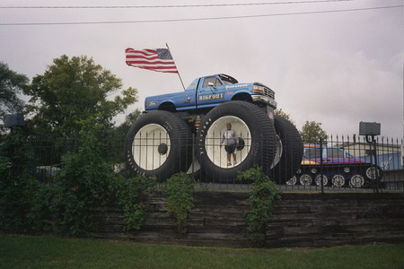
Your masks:
<path fill-rule="evenodd" d="M 84 24 L 122 24 L 122 23 L 154 23 L 154 22 L 196 22 L 196 21 L 213 21 L 213 20 L 230 20 L 230 19 L 247 19 L 247 18 L 262 18 L 273 16 L 288 16 L 288 15 L 305 15 L 319 13 L 344 13 L 357 12 L 376 9 L 398 8 L 404 5 L 378 6 L 355 9 L 328 10 L 317 12 L 301 12 L 301 13 L 273 13 L 262 15 L 243 15 L 243 16 L 227 16 L 227 17 L 207 17 L 207 18 L 191 18 L 191 19 L 169 19 L 169 20 L 145 20 L 145 21 L 126 21 L 126 22 L 10 22 L 0 23 L 0 26 L 32 26 L 32 25 L 84 25 Z"/>

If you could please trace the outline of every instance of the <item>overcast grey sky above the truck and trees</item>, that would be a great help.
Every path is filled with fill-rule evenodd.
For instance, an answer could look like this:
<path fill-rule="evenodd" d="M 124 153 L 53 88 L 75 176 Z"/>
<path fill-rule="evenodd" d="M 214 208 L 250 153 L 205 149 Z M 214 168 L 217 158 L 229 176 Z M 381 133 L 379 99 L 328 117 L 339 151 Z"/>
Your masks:
<path fill-rule="evenodd" d="M 4 8 L 112 4 L 154 7 Z M 178 7 L 206 4 L 214 6 Z M 383 136 L 402 137 L 402 4 L 401 0 L 2 0 L 0 61 L 31 79 L 63 54 L 91 56 L 121 78 L 125 89 L 138 90 L 140 100 L 127 109 L 131 112 L 144 109 L 146 96 L 182 91 L 177 74 L 125 63 L 125 48 L 166 48 L 167 43 L 186 87 L 199 76 L 230 74 L 239 82 L 262 82 L 274 90 L 278 108 L 298 128 L 308 120 L 322 123 L 329 134 L 357 134 L 360 121 L 378 122 Z M 155 7 L 159 5 L 164 7 Z M 10 25 L 60 22 L 130 23 Z"/>

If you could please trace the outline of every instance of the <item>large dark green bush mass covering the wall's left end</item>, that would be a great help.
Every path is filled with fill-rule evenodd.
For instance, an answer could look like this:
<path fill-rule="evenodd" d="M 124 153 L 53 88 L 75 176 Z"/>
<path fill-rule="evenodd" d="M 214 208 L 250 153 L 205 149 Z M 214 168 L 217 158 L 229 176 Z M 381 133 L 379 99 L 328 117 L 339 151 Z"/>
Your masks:
<path fill-rule="evenodd" d="M 154 178 L 123 178 L 105 160 L 104 126 L 82 122 L 81 146 L 62 157 L 56 178 L 35 178 L 35 158 L 19 130 L 0 140 L 0 230 L 39 233 L 54 230 L 88 236 L 94 210 L 122 206 L 127 230 L 139 230 L 145 219 L 142 192 L 153 191 Z"/>

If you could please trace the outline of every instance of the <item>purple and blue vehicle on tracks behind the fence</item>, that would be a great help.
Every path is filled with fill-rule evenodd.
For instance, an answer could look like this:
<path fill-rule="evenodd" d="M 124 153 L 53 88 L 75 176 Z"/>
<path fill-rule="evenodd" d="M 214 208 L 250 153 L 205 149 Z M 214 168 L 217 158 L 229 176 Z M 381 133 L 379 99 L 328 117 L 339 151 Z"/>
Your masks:
<path fill-rule="evenodd" d="M 357 158 L 342 147 L 304 144 L 301 168 L 286 184 L 371 187 L 381 178 L 380 167 Z"/>

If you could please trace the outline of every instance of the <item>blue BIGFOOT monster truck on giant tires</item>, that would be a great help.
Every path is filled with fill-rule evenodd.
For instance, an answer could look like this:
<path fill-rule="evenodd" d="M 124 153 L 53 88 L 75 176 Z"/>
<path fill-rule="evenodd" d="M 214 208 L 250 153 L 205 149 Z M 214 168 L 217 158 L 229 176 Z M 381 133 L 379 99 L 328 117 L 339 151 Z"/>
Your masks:
<path fill-rule="evenodd" d="M 267 86 L 239 83 L 226 74 L 197 78 L 185 91 L 147 97 L 145 115 L 127 134 L 127 165 L 159 181 L 200 169 L 220 182 L 259 165 L 285 182 L 299 169 L 303 143 L 292 123 L 274 115 L 276 108 L 275 92 Z M 237 162 L 230 166 L 221 147 L 227 123 L 239 136 Z"/>

